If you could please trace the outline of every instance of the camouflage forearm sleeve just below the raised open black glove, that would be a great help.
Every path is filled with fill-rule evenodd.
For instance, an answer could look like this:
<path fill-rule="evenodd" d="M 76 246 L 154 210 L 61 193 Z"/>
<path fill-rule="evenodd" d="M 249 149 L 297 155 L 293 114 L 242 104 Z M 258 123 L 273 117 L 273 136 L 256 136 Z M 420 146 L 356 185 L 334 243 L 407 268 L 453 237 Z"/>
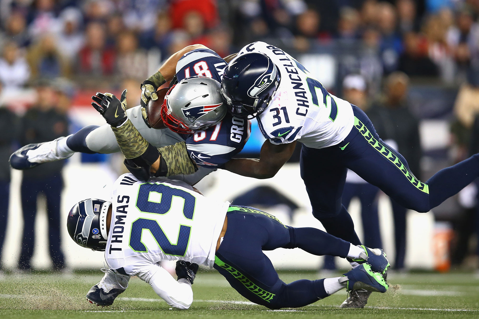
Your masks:
<path fill-rule="evenodd" d="M 112 127 L 112 130 L 126 159 L 140 157 L 148 149 L 148 141 L 141 136 L 129 119 L 119 128 Z"/>

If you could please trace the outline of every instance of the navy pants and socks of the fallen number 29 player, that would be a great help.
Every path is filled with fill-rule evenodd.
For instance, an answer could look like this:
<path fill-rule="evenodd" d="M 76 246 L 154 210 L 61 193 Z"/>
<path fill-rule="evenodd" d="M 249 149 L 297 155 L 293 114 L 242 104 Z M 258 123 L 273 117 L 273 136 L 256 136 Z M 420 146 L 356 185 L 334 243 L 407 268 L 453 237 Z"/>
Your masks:
<path fill-rule="evenodd" d="M 286 226 L 273 215 L 246 206 L 231 206 L 227 216 L 214 267 L 239 294 L 271 309 L 303 307 L 329 296 L 324 279 L 285 284 L 262 251 L 299 247 L 313 255 L 344 258 L 350 243 L 316 228 Z"/>

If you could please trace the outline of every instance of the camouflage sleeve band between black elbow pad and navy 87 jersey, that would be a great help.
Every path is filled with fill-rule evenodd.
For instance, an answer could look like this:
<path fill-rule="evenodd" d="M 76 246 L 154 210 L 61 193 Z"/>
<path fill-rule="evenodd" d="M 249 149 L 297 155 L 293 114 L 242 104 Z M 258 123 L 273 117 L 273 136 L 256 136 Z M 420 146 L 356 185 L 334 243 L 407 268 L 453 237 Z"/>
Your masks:
<path fill-rule="evenodd" d="M 181 174 L 190 175 L 197 170 L 188 155 L 185 142 L 163 146 L 162 148 L 159 148 L 158 151 L 168 167 L 168 173 L 166 176 Z"/>

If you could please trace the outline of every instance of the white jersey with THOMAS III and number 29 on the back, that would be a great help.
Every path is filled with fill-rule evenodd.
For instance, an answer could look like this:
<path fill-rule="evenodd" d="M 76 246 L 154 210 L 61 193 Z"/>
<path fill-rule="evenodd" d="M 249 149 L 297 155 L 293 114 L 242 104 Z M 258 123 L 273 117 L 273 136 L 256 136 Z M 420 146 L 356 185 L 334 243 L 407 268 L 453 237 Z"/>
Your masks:
<path fill-rule="evenodd" d="M 137 181 L 120 176 L 112 191 L 112 223 L 105 249 L 110 268 L 182 259 L 213 267 L 229 202 L 165 178 Z"/>

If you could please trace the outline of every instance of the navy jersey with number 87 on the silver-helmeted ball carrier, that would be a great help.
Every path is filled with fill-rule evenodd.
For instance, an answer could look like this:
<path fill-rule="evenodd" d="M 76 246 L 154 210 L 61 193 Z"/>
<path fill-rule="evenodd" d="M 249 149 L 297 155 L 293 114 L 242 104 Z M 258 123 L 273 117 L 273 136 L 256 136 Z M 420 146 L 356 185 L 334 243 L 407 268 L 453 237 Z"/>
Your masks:
<path fill-rule="evenodd" d="M 196 49 L 185 53 L 176 64 L 178 81 L 201 75 L 221 83 L 226 62 L 210 49 Z M 198 166 L 215 169 L 225 164 L 243 149 L 250 137 L 249 120 L 227 114 L 217 125 L 194 134 L 184 135 L 186 149 Z"/>

